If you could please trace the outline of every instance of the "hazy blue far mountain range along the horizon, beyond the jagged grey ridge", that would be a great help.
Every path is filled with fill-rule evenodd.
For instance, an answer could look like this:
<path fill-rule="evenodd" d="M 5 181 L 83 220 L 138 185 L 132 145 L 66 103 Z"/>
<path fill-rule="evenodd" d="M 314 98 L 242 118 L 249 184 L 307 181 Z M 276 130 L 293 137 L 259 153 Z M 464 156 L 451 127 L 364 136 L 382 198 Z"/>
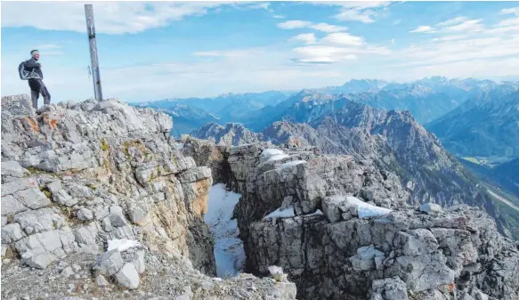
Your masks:
<path fill-rule="evenodd" d="M 173 112 L 178 104 L 191 106 L 199 110 L 193 115 L 183 115 L 177 120 L 177 129 L 173 134 L 189 134 L 199 124 L 199 115 L 212 115 L 215 122 L 225 125 L 239 122 L 255 131 L 263 130 L 285 116 L 293 116 L 295 110 L 303 114 L 301 105 L 324 104 L 323 111 L 337 109 L 345 101 L 357 101 L 380 109 L 409 110 L 420 124 L 429 124 L 467 100 L 487 94 L 497 98 L 513 93 L 519 89 L 519 82 L 491 80 L 448 79 L 446 77 L 430 77 L 410 83 L 395 83 L 377 79 L 352 79 L 340 86 L 304 89 L 300 92 L 268 91 L 264 93 L 227 93 L 214 98 L 171 98 L 160 101 L 130 103 L 135 106 L 146 106 L 154 109 L 165 109 Z M 342 100 L 335 102 L 337 100 Z M 324 103 L 324 102 L 330 103 Z M 301 104 L 304 102 L 305 104 Z M 333 103 L 331 103 L 333 102 Z M 297 108 L 293 108 L 293 106 Z"/>

